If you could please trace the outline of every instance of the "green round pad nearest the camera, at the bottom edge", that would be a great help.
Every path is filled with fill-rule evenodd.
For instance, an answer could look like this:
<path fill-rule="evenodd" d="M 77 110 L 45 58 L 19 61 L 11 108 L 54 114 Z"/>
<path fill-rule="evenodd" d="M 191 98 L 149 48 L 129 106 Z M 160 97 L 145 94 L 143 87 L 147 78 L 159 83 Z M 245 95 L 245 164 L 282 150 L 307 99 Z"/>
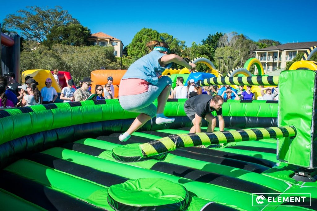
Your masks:
<path fill-rule="evenodd" d="M 140 178 L 112 185 L 108 203 L 115 210 L 185 210 L 189 195 L 183 185 L 160 178 Z"/>

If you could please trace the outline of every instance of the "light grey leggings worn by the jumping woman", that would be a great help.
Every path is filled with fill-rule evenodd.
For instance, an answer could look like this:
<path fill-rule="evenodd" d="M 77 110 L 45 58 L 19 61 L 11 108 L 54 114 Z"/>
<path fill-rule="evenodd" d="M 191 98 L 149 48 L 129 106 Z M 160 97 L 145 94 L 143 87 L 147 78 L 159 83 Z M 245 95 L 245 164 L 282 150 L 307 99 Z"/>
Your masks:
<path fill-rule="evenodd" d="M 120 105 L 127 111 L 143 113 L 153 118 L 157 112 L 157 107 L 153 104 L 153 101 L 158 98 L 167 85 L 171 85 L 171 82 L 170 77 L 162 76 L 162 78 L 159 79 L 159 84 L 149 84 L 147 92 L 137 95 L 120 96 Z"/>

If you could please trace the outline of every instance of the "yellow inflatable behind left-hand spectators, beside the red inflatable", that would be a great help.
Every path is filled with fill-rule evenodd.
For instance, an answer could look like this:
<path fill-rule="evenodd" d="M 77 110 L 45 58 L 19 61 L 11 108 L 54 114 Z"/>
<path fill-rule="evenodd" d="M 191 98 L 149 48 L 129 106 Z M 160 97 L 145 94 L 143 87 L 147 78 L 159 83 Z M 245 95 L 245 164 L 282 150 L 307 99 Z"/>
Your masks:
<path fill-rule="evenodd" d="M 39 83 L 39 85 L 37 86 L 37 88 L 41 91 L 42 88 L 45 85 L 45 80 L 46 78 L 51 78 L 53 83 L 52 83 L 52 87 L 55 88 L 55 90 L 57 92 L 61 92 L 61 88 L 59 87 L 59 85 L 57 84 L 57 81 L 55 80 L 52 72 L 50 70 L 26 70 L 22 72 L 22 82 L 24 84 L 25 80 L 24 78 L 26 76 L 31 76 L 33 77 L 34 80 L 36 80 L 36 82 Z"/>

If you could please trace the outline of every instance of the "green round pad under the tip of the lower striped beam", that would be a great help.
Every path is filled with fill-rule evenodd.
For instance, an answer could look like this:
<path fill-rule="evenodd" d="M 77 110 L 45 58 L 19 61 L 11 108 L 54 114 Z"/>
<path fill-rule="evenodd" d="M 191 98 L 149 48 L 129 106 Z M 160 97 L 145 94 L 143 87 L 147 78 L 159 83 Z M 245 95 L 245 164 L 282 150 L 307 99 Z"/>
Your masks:
<path fill-rule="evenodd" d="M 148 159 L 162 160 L 165 156 L 166 153 L 164 152 L 148 158 L 142 158 L 139 144 L 127 144 L 112 149 L 112 157 L 120 162 L 139 162 Z"/>

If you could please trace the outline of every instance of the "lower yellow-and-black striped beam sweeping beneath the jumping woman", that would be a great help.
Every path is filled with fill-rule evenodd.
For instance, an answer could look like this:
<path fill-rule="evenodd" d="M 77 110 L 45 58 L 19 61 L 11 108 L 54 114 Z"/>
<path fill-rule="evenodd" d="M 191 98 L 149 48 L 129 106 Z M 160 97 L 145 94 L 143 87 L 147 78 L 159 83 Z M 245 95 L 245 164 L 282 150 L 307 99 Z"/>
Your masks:
<path fill-rule="evenodd" d="M 173 151 L 181 147 L 293 136 L 296 136 L 296 128 L 294 126 L 228 130 L 222 132 L 189 133 L 179 135 L 173 134 L 145 144 L 140 144 L 139 149 L 141 150 L 141 157 L 146 158 L 153 155 L 158 155 L 163 152 Z"/>

